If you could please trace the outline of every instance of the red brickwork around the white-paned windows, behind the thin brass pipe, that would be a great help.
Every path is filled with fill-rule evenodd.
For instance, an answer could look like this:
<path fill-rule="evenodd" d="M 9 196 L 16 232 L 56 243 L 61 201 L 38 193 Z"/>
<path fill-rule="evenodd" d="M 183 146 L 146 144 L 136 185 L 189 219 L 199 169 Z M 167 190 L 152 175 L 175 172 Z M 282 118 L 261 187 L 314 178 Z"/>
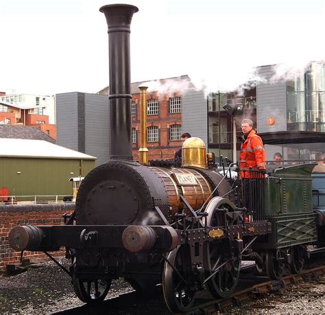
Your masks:
<path fill-rule="evenodd" d="M 147 143 L 149 160 L 151 159 L 173 159 L 175 152 L 182 147 L 181 141 L 169 140 L 169 126 L 182 124 L 182 114 L 169 113 L 169 97 L 180 97 L 180 93 L 173 95 L 162 95 L 156 92 L 147 93 L 147 100 L 158 99 L 158 115 L 147 116 L 147 127 L 158 126 L 159 141 Z M 132 128 L 136 128 L 136 143 L 132 145 L 132 154 L 135 161 L 139 160 L 139 146 L 141 139 L 141 98 L 140 94 L 133 94 L 132 101 L 136 102 L 136 117 L 132 117 Z"/>

